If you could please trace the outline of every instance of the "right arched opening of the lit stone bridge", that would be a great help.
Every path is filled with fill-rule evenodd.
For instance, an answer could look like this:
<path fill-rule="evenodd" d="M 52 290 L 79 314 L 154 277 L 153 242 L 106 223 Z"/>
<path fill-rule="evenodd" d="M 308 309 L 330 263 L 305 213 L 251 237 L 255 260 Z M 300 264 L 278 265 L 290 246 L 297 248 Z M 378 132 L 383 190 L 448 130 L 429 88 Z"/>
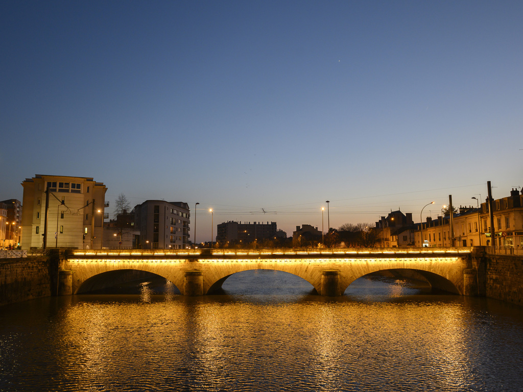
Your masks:
<path fill-rule="evenodd" d="M 380 295 L 400 297 L 418 294 L 460 294 L 443 276 L 414 269 L 390 269 L 372 272 L 352 282 L 344 295 Z"/>

